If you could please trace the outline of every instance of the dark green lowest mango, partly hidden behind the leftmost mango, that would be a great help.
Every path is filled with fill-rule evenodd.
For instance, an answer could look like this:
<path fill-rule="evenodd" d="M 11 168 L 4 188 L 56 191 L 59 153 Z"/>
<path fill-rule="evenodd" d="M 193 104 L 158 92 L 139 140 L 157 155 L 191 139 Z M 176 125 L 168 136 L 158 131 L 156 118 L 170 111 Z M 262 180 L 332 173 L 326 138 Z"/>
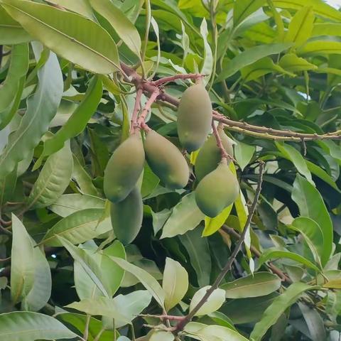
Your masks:
<path fill-rule="evenodd" d="M 133 242 L 139 234 L 144 217 L 144 204 L 139 188 L 135 186 L 124 200 L 112 202 L 110 216 L 117 239 L 123 244 Z"/>

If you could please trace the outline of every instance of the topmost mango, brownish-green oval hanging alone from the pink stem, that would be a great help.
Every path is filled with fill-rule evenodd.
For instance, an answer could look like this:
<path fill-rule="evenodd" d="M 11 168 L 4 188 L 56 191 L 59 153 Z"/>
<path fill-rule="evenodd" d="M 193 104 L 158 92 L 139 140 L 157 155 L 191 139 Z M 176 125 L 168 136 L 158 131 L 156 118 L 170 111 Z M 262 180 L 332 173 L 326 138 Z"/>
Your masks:
<path fill-rule="evenodd" d="M 212 103 L 204 85 L 188 87 L 178 107 L 178 136 L 187 151 L 204 144 L 212 124 Z"/>

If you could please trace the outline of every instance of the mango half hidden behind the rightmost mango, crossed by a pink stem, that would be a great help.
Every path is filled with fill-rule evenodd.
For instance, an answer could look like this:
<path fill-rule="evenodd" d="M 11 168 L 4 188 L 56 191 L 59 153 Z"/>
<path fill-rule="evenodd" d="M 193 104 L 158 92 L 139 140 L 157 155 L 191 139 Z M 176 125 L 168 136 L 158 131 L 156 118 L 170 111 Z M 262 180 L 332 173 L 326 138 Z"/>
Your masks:
<path fill-rule="evenodd" d="M 220 135 L 220 139 L 222 139 L 222 145 L 227 153 L 229 153 L 230 156 L 233 156 L 233 147 L 229 137 L 224 133 L 223 129 L 218 129 L 218 134 Z M 214 171 L 221 160 L 222 153 L 217 146 L 217 140 L 214 135 L 211 135 L 200 148 L 197 158 L 195 159 L 195 175 L 197 176 L 197 180 L 202 180 L 208 173 Z M 228 159 L 227 163 L 230 162 L 231 160 Z"/>

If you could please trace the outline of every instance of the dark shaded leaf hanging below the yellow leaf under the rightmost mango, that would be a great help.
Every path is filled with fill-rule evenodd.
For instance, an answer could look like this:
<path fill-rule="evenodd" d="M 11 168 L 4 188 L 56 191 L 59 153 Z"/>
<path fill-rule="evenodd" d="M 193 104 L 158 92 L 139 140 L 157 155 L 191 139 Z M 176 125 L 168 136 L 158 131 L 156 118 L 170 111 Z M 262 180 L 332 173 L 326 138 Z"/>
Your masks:
<path fill-rule="evenodd" d="M 180 236 L 180 242 L 190 256 L 190 265 L 197 274 L 197 283 L 199 286 L 207 286 L 210 283 L 212 264 L 207 238 L 202 238 L 201 235 L 202 229 L 197 227 Z"/>

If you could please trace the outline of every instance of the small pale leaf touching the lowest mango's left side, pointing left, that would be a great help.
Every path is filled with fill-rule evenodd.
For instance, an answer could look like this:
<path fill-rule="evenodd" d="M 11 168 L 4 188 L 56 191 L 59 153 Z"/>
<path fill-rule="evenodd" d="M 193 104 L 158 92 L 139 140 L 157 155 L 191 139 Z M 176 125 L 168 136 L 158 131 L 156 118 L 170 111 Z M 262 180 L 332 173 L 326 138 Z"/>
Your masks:
<path fill-rule="evenodd" d="M 94 197 L 86 194 L 64 194 L 60 196 L 53 205 L 49 207 L 52 212 L 60 215 L 60 217 L 67 217 L 72 213 L 86 210 L 87 208 L 103 208 L 105 200 L 100 197 Z"/>

